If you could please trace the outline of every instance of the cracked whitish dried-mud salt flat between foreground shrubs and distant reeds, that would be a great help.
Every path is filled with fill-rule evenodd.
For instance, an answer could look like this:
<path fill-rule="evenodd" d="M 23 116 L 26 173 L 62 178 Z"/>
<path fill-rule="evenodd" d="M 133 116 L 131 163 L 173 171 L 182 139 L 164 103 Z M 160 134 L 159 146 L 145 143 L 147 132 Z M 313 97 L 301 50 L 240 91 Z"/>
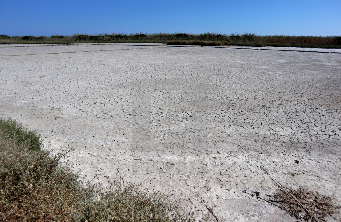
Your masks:
<path fill-rule="evenodd" d="M 243 192 L 277 191 L 261 167 L 341 204 L 341 54 L 1 45 L 0 102 L 45 147 L 73 148 L 82 180 L 141 183 L 193 215 L 293 220 Z"/>

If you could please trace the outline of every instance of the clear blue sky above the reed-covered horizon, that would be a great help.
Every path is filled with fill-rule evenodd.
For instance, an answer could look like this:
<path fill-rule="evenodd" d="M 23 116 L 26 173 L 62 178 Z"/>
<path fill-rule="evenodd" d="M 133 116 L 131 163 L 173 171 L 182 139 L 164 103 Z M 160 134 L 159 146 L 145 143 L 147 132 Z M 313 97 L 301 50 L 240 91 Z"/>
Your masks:
<path fill-rule="evenodd" d="M 2 0 L 0 34 L 341 35 L 341 0 Z"/>

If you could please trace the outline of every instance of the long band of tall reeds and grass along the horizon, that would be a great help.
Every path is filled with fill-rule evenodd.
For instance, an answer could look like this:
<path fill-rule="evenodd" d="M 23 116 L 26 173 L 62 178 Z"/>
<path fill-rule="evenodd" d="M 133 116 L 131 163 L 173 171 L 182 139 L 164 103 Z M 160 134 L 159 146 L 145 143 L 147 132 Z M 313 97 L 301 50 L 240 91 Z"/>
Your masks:
<path fill-rule="evenodd" d="M 232 33 L 230 35 L 221 33 L 153 33 L 153 34 L 74 34 L 51 35 L 51 36 L 8 36 L 0 35 L 1 43 L 42 43 L 63 42 L 75 43 L 79 41 L 88 42 L 165 42 L 165 41 L 230 41 L 230 42 L 254 42 L 254 43 L 277 43 L 277 44 L 299 44 L 299 45 L 341 45 L 340 36 L 296 36 L 296 35 L 256 35 L 248 32 Z"/>

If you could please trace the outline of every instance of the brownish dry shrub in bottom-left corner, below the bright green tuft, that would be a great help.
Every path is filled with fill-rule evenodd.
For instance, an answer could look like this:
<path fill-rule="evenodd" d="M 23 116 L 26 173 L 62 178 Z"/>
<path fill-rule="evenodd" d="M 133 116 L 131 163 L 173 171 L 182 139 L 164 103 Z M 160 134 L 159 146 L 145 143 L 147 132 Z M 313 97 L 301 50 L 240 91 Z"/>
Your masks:
<path fill-rule="evenodd" d="M 0 218 L 3 221 L 71 219 L 68 213 L 73 209 L 71 202 L 80 201 L 84 194 L 78 191 L 77 177 L 65 173 L 69 169 L 58 167 L 58 158 L 29 151 L 17 144 L 15 138 L 6 138 L 2 133 L 0 162 Z"/>

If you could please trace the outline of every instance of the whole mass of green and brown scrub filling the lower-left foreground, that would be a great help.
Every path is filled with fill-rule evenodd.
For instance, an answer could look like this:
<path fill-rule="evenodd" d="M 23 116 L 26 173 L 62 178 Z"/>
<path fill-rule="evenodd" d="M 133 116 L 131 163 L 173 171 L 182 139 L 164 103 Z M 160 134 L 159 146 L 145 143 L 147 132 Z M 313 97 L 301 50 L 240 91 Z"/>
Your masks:
<path fill-rule="evenodd" d="M 40 135 L 0 119 L 1 221 L 190 221 L 160 193 L 120 181 L 84 187 L 79 177 L 42 150 Z M 39 152 L 37 152 L 39 151 Z"/>

